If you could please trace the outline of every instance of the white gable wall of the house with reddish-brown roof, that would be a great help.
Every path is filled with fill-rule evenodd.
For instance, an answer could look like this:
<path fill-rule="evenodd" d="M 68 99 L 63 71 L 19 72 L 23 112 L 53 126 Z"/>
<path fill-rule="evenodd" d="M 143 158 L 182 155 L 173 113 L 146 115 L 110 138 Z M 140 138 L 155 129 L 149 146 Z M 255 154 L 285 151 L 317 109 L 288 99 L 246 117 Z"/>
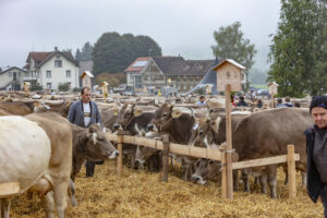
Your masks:
<path fill-rule="evenodd" d="M 55 60 L 61 60 L 62 66 L 55 68 Z M 71 71 L 71 77 L 66 77 L 66 71 Z M 51 77 L 47 77 L 47 71 L 51 71 Z M 44 89 L 47 88 L 47 83 L 51 83 L 52 89 L 58 89 L 58 85 L 60 83 L 68 83 L 72 84 L 72 88 L 78 87 L 78 66 L 74 63 L 69 61 L 63 56 L 57 58 L 53 56 L 49 61 L 47 61 L 40 68 L 40 77 L 38 78 L 38 83 L 43 86 Z"/>

